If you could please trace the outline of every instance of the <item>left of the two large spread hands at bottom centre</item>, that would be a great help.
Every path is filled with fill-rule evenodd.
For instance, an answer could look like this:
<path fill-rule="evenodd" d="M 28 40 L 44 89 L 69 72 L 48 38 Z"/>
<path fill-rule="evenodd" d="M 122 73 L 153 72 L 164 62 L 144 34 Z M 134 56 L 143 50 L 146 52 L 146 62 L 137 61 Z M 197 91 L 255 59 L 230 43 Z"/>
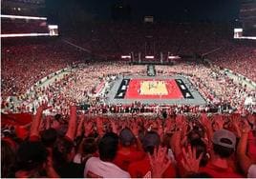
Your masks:
<path fill-rule="evenodd" d="M 162 174 L 171 164 L 171 161 L 166 157 L 167 148 L 154 149 L 154 154 L 151 156 L 148 154 L 152 178 L 161 178 Z"/>

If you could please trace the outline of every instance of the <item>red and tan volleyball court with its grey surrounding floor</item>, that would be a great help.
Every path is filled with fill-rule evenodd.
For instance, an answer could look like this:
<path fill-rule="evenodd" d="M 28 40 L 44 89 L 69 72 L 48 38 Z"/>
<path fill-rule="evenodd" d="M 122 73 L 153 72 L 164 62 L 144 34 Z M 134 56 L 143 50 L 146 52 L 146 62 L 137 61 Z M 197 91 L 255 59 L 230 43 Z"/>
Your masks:
<path fill-rule="evenodd" d="M 158 88 L 148 88 L 149 81 L 160 84 Z M 144 89 L 143 89 L 144 88 Z M 146 89 L 146 90 L 145 90 Z M 167 93 L 166 93 L 167 90 Z M 203 105 L 205 100 L 184 76 L 124 76 L 113 82 L 106 95 L 108 105 L 132 104 L 139 101 L 148 105 Z"/>

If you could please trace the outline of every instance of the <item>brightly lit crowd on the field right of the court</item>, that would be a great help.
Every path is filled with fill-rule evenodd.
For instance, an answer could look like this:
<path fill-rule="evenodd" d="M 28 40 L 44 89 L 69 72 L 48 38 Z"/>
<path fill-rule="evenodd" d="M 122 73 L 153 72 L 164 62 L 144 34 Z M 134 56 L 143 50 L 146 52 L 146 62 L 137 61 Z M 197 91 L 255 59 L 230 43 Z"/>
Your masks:
<path fill-rule="evenodd" d="M 245 98 L 252 96 L 255 99 L 255 90 L 248 89 L 242 84 L 238 84 L 218 67 L 206 67 L 203 64 L 179 64 L 169 67 L 160 67 L 163 74 L 180 73 L 190 79 L 192 84 L 203 95 L 208 103 L 216 106 L 228 104 L 232 109 L 242 112 L 245 106 Z M 255 108 L 255 107 L 254 107 Z"/>

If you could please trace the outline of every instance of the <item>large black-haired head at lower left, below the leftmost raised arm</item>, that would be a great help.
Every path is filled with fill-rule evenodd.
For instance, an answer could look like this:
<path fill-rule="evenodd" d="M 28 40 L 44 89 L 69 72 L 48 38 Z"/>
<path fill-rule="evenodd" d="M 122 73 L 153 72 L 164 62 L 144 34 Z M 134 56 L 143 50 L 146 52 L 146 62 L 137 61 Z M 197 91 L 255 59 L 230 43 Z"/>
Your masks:
<path fill-rule="evenodd" d="M 48 151 L 41 142 L 26 141 L 17 150 L 17 169 L 30 171 L 47 161 Z"/>

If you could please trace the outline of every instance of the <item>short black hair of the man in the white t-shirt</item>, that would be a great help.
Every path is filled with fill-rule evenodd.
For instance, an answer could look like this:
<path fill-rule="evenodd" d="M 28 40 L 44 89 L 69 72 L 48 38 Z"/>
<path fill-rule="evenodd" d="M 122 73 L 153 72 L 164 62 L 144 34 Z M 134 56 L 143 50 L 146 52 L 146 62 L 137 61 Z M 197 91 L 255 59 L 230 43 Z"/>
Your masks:
<path fill-rule="evenodd" d="M 102 161 L 113 161 L 118 148 L 118 136 L 114 132 L 106 133 L 98 144 L 99 158 Z"/>

